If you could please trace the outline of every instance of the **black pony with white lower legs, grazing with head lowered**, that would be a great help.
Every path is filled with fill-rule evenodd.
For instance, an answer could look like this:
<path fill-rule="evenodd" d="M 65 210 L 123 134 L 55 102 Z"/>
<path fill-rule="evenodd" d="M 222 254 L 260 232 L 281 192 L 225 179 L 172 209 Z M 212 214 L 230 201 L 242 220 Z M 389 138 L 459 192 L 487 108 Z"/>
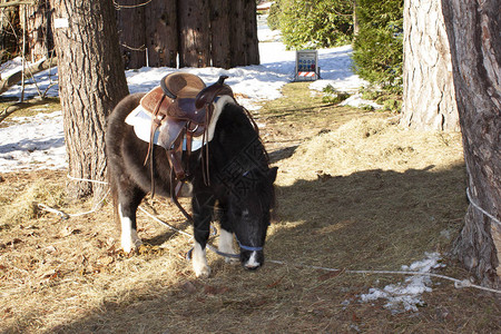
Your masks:
<path fill-rule="evenodd" d="M 121 226 L 121 248 L 130 253 L 141 245 L 136 210 L 155 183 L 155 194 L 171 196 L 170 166 L 163 147 L 154 146 L 154 159 L 145 160 L 148 143 L 139 139 L 126 117 L 144 94 L 124 98 L 108 117 L 105 132 L 108 178 L 114 198 L 115 220 Z M 244 268 L 264 264 L 264 244 L 275 204 L 277 167 L 269 160 L 248 112 L 230 97 L 220 97 L 220 114 L 208 145 L 187 157 L 185 181 L 191 197 L 194 248 L 193 269 L 197 277 L 210 274 L 206 258 L 209 225 L 219 220 L 219 252 L 239 257 Z M 208 161 L 202 163 L 204 159 Z M 150 164 L 154 164 L 151 169 Z M 204 170 L 208 164 L 208 175 Z M 150 173 L 154 170 L 155 173 Z M 239 245 L 235 249 L 234 237 Z M 230 258 L 226 258 L 232 262 Z"/>

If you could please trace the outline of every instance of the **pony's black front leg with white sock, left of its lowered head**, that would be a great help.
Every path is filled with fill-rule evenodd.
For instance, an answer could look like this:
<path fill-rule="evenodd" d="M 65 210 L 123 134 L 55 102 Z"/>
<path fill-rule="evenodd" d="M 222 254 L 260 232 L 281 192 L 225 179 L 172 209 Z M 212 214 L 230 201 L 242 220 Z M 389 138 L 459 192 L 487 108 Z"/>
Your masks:
<path fill-rule="evenodd" d="M 197 277 L 208 277 L 210 267 L 207 263 L 206 245 L 209 237 L 210 220 L 215 199 L 210 194 L 198 194 L 193 197 L 193 219 L 195 243 L 193 248 L 193 269 Z"/>

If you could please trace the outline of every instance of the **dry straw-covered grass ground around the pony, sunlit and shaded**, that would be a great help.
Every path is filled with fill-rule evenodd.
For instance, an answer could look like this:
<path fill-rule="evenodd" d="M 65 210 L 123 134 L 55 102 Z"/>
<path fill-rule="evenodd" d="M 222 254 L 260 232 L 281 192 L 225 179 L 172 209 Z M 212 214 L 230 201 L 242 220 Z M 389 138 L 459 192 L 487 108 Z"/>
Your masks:
<path fill-rule="evenodd" d="M 266 105 L 258 119 L 279 167 L 266 256 L 289 265 L 268 262 L 248 273 L 209 254 L 213 276 L 197 279 L 183 257 L 187 237 L 139 214 L 148 246 L 126 256 L 117 250 L 110 204 L 68 220 L 32 209 L 32 202 L 68 213 L 91 207 L 66 202 L 65 171 L 6 174 L 0 332 L 499 332 L 500 302 L 479 291 L 434 279 L 425 306 L 394 314 L 360 294 L 402 277 L 291 265 L 399 269 L 439 250 L 441 274 L 468 277 L 446 257 L 466 206 L 459 135 L 403 131 L 391 115 L 323 106 L 302 91 L 286 86 L 286 98 Z M 190 232 L 169 203 L 149 200 L 147 208 Z"/>

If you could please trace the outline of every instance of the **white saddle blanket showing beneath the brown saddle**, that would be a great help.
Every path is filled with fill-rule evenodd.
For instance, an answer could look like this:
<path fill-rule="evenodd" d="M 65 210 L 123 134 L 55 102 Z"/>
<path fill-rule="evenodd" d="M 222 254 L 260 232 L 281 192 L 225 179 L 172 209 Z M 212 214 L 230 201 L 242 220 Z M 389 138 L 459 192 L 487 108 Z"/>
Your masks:
<path fill-rule="evenodd" d="M 214 114 L 213 118 L 209 121 L 209 126 L 207 127 L 207 140 L 210 141 L 214 138 L 214 130 L 216 129 L 217 120 L 219 119 L 219 115 L 223 111 L 223 108 L 226 106 L 226 104 L 236 104 L 235 100 L 229 96 L 223 96 L 216 98 L 214 105 Z M 136 109 L 134 109 L 126 118 L 126 124 L 134 127 L 134 131 L 136 136 L 146 141 L 149 143 L 150 135 L 151 135 L 151 118 L 153 114 L 147 111 L 145 108 L 139 105 Z M 166 126 L 166 124 L 161 124 L 160 127 L 155 131 L 154 136 L 154 143 L 155 145 L 159 145 L 164 147 L 159 141 L 159 135 L 163 130 L 163 128 Z M 191 143 L 191 150 L 198 150 L 204 145 L 203 143 L 203 136 L 194 137 Z M 167 148 L 167 147 L 165 147 Z M 168 149 L 168 148 L 167 148 Z M 183 141 L 183 150 L 186 150 L 186 137 Z"/>

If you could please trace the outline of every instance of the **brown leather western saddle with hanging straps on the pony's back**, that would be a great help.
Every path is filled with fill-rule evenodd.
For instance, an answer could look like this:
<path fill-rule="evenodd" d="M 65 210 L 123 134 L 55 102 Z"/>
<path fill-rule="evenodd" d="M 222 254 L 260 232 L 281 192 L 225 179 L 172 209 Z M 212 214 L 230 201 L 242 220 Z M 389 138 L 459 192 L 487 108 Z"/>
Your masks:
<path fill-rule="evenodd" d="M 174 72 L 164 77 L 160 86 L 146 94 L 140 105 L 151 112 L 151 130 L 145 165 L 150 160 L 151 196 L 155 195 L 154 181 L 154 146 L 153 138 L 159 130 L 159 141 L 165 147 L 170 164 L 171 197 L 177 203 L 184 180 L 189 176 L 188 159 L 191 154 L 194 137 L 203 137 L 204 145 L 208 145 L 207 128 L 214 112 L 213 102 L 218 96 L 233 96 L 232 88 L 224 84 L 226 76 L 220 76 L 217 82 L 206 86 L 204 81 L 191 73 Z M 185 145 L 184 145 L 185 144 Z M 184 150 L 183 147 L 186 146 Z M 208 178 L 208 148 L 203 155 L 204 179 Z M 179 206 L 179 205 L 178 205 Z M 179 206 L 180 207 L 180 206 Z M 185 210 L 180 208 L 185 214 Z M 186 216 L 186 214 L 185 214 Z"/>

